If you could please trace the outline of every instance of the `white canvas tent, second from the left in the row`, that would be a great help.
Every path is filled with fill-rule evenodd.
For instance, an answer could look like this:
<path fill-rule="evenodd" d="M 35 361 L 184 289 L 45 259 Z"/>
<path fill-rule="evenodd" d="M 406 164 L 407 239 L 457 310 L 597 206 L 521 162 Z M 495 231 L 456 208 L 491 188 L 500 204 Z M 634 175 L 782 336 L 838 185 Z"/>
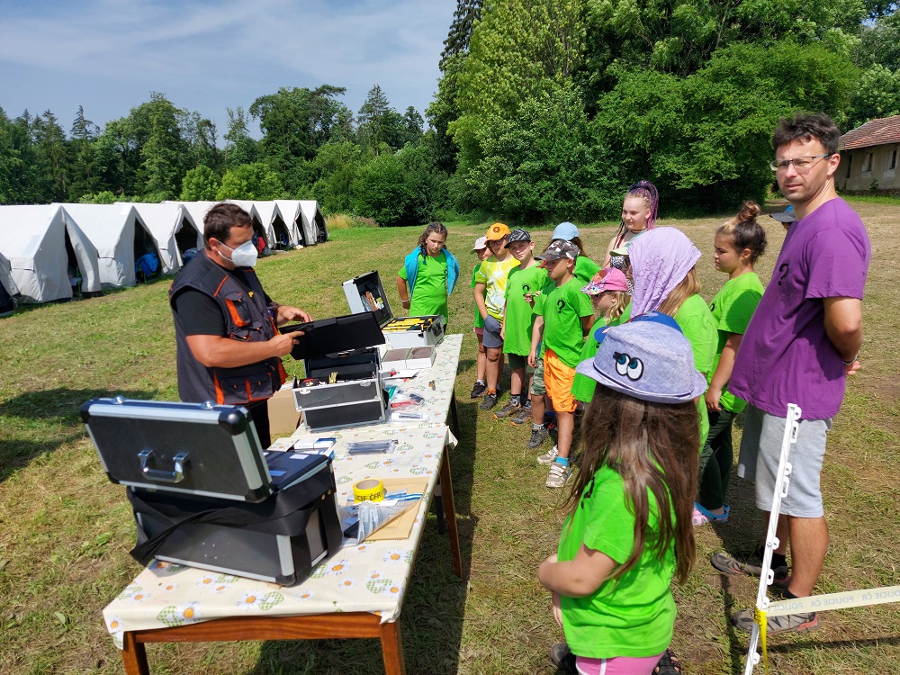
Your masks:
<path fill-rule="evenodd" d="M 135 261 L 146 253 L 159 256 L 133 204 L 60 204 L 97 248 L 103 288 L 130 288 L 136 283 Z"/>

